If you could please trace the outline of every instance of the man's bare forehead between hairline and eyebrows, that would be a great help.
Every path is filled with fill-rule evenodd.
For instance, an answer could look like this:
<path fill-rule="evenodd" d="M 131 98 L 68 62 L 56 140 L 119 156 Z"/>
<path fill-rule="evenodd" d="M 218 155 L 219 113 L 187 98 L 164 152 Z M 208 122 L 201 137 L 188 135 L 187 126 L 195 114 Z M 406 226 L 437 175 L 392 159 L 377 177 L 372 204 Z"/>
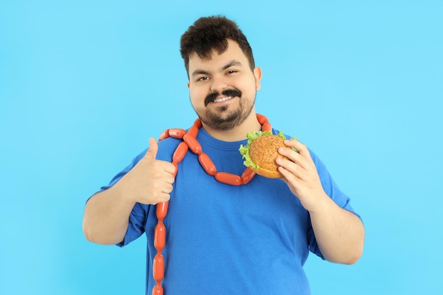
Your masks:
<path fill-rule="evenodd" d="M 232 60 L 237 61 L 241 66 L 248 66 L 249 61 L 241 50 L 237 42 L 228 39 L 227 49 L 220 53 L 212 50 L 209 59 L 200 58 L 197 53 L 192 52 L 189 57 L 189 72 L 192 74 L 196 69 L 220 69 Z"/>

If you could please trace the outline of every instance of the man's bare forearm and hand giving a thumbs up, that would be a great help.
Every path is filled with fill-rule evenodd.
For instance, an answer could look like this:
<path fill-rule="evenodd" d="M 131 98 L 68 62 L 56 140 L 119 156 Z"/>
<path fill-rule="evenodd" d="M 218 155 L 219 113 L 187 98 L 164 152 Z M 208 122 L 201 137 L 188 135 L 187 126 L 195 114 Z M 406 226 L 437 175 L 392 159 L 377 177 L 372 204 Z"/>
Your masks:
<path fill-rule="evenodd" d="M 146 155 L 130 172 L 86 203 L 83 231 L 88 241 L 104 245 L 120 243 L 125 238 L 134 204 L 169 200 L 176 168 L 172 163 L 156 160 L 157 142 L 151 138 L 149 143 Z"/>

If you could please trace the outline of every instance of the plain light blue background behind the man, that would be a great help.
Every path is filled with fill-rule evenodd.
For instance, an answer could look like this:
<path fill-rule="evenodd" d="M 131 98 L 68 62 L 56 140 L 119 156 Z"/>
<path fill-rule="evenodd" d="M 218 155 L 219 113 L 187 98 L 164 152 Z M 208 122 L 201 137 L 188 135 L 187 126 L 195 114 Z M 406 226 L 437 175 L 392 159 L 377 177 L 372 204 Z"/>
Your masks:
<path fill-rule="evenodd" d="M 84 203 L 192 125 L 179 38 L 217 13 L 262 67 L 257 111 L 364 219 L 356 265 L 310 256 L 313 295 L 442 294 L 443 1 L 427 0 L 1 0 L 0 294 L 144 294 L 144 238 L 88 243 Z"/>

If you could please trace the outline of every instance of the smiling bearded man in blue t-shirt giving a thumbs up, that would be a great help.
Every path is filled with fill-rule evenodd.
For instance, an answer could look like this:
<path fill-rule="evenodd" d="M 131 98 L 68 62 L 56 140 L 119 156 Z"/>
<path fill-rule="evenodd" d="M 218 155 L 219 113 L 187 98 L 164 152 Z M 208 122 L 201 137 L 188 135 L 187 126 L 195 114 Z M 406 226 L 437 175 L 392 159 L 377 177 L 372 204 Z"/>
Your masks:
<path fill-rule="evenodd" d="M 299 153 L 279 151 L 288 158 L 277 160 L 282 179 L 255 175 L 232 185 L 217 178 L 240 179 L 234 176 L 246 168 L 238 148 L 248 132 L 262 128 L 254 107 L 262 73 L 246 37 L 222 16 L 198 19 L 180 45 L 200 120 L 185 144 L 184 130 L 159 143 L 150 138 L 149 149 L 88 200 L 86 238 L 122 246 L 145 233 L 146 294 L 153 288 L 161 294 L 156 280 L 166 295 L 310 294 L 303 270 L 309 251 L 355 263 L 362 255 L 362 221 L 323 163 L 295 139 L 285 144 Z M 154 245 L 158 203 L 168 204 L 164 248 Z"/>

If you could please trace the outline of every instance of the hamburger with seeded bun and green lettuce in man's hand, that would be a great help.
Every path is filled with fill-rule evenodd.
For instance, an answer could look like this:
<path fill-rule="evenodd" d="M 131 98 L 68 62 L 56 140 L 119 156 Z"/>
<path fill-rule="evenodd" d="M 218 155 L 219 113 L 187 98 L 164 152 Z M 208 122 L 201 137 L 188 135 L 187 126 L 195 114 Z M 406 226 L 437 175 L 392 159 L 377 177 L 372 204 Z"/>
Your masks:
<path fill-rule="evenodd" d="M 287 158 L 278 153 L 280 147 L 289 147 L 284 144 L 287 138 L 283 132 L 274 135 L 270 131 L 253 131 L 246 135 L 248 143 L 246 146 L 240 145 L 240 154 L 245 159 L 243 164 L 250 167 L 258 175 L 266 178 L 282 178 L 283 175 L 278 171 L 278 165 L 275 159 Z"/>

